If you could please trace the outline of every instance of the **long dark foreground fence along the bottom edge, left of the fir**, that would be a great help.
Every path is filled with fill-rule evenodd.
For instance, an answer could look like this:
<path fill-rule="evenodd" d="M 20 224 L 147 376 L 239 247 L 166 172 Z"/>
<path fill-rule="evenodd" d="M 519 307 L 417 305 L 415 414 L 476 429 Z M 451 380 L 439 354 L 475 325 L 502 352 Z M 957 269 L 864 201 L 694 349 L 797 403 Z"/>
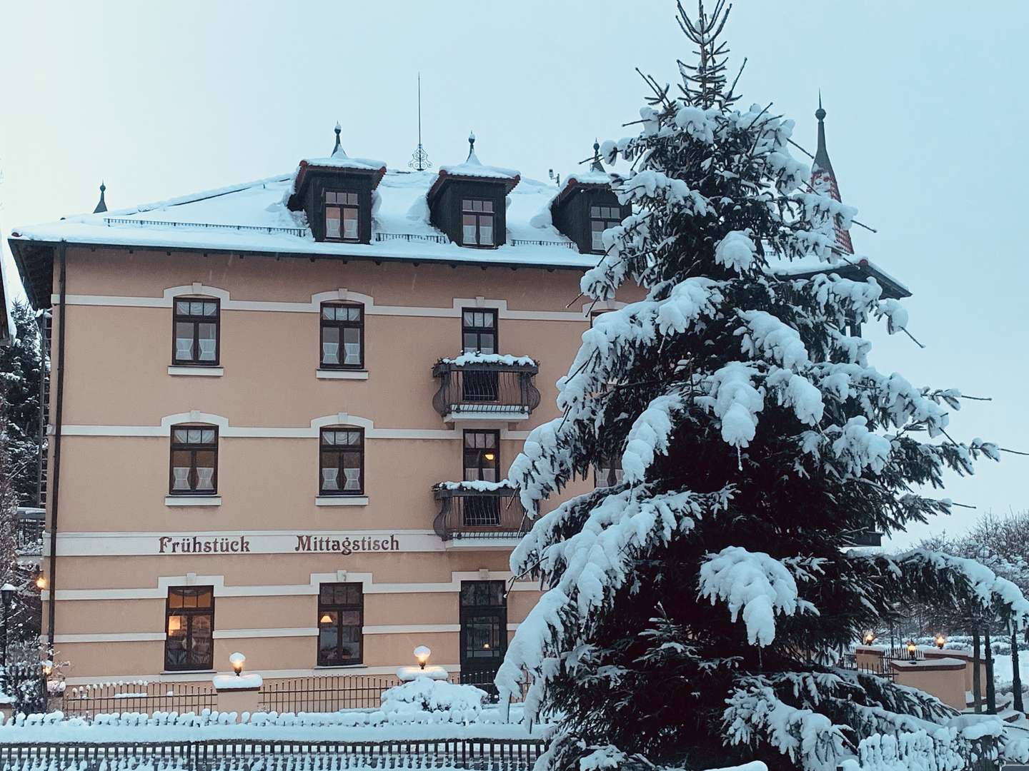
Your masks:
<path fill-rule="evenodd" d="M 295 768 L 458 767 L 528 771 L 542 755 L 541 739 L 440 739 L 391 741 L 257 741 L 212 739 L 176 742 L 34 742 L 0 744 L 5 771 L 38 768 L 169 767 L 214 771 Z M 320 761 L 320 762 L 319 762 Z"/>

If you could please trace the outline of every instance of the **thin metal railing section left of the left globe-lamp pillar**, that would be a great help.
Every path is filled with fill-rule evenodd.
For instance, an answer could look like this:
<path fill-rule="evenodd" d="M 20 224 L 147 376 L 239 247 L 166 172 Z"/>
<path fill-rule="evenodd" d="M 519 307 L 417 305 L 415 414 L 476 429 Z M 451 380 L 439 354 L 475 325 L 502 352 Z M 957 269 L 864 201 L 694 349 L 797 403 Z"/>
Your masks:
<path fill-rule="evenodd" d="M 214 686 L 191 683 L 69 686 L 61 697 L 61 711 L 76 718 L 110 712 L 200 712 L 215 708 Z"/>

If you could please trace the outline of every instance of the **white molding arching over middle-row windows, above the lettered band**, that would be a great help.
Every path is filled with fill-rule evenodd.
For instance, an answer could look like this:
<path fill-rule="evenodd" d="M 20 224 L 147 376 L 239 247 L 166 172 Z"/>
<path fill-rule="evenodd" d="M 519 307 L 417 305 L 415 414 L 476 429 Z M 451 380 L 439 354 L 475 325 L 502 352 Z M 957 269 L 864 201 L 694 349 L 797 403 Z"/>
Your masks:
<path fill-rule="evenodd" d="M 168 437 L 172 435 L 173 426 L 183 423 L 217 426 L 219 439 L 317 439 L 321 430 L 330 426 L 355 426 L 364 429 L 365 439 L 460 440 L 463 437 L 463 434 L 455 429 L 376 428 L 371 418 L 352 415 L 348 412 L 321 415 L 313 418 L 308 426 L 232 426 L 224 415 L 204 412 L 199 409 L 165 415 L 156 426 L 76 426 L 66 424 L 61 427 L 61 433 L 64 436 Z M 528 431 L 508 431 L 507 429 L 500 431 L 501 439 L 521 441 L 528 436 Z"/>

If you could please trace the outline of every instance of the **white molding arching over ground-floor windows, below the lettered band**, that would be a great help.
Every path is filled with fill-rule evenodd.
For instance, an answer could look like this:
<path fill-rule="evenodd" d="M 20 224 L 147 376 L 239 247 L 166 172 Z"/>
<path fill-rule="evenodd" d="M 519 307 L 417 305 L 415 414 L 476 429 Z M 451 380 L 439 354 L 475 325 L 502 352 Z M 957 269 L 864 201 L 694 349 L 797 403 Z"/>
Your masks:
<path fill-rule="evenodd" d="M 452 572 L 449 582 L 439 583 L 376 583 L 372 574 L 351 571 L 335 573 L 312 573 L 308 584 L 272 585 L 226 585 L 225 577 L 201 576 L 159 576 L 156 586 L 118 589 L 58 589 L 57 600 L 108 600 L 108 599 L 161 599 L 168 597 L 172 586 L 212 586 L 216 597 L 289 597 L 317 595 L 321 584 L 359 583 L 364 594 L 426 594 L 453 593 L 461 590 L 462 581 L 505 581 L 510 582 L 513 574 L 508 571 L 462 571 Z M 539 591 L 533 581 L 516 581 L 511 591 Z M 49 591 L 42 592 L 49 599 Z M 162 637 L 163 639 L 163 637 Z"/>

